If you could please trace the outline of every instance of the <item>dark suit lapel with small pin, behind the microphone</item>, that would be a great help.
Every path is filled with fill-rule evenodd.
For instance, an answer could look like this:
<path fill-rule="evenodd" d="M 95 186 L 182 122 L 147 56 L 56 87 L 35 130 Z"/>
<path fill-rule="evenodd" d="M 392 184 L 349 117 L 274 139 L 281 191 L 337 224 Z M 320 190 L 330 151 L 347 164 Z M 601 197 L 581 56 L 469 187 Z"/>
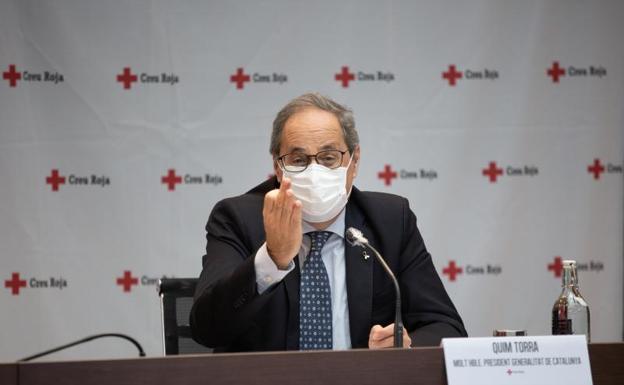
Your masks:
<path fill-rule="evenodd" d="M 352 202 L 353 199 L 350 199 L 347 204 L 345 231 L 349 227 L 355 227 L 372 240 L 364 215 Z M 345 241 L 349 329 L 353 348 L 368 347 L 373 308 L 373 259 L 364 258 L 364 249 L 351 246 Z"/>

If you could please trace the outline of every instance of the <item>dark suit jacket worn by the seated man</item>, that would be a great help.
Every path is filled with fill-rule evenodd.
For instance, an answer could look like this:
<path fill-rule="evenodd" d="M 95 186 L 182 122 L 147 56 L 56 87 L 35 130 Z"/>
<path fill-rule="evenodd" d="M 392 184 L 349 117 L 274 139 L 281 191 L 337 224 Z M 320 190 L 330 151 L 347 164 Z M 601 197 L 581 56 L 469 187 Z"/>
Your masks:
<path fill-rule="evenodd" d="M 262 295 L 256 286 L 254 256 L 265 242 L 264 195 L 277 187 L 272 178 L 244 195 L 224 199 L 208 219 L 190 324 L 193 338 L 215 351 L 299 348 L 298 266 Z M 412 345 L 466 336 L 407 199 L 354 187 L 346 210 L 345 228 L 360 229 L 399 280 L 403 323 Z M 345 253 L 351 344 L 366 348 L 373 325 L 394 322 L 394 288 L 374 257 L 363 258 L 363 249 L 346 244 Z"/>

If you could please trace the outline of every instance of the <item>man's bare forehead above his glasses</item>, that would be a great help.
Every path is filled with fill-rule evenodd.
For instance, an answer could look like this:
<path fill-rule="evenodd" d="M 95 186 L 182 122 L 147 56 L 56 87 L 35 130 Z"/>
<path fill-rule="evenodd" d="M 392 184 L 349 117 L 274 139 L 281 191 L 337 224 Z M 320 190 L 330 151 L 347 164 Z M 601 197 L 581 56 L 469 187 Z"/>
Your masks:
<path fill-rule="evenodd" d="M 280 153 L 295 149 L 312 153 L 344 147 L 346 144 L 338 118 L 328 111 L 306 108 L 293 114 L 284 124 Z"/>

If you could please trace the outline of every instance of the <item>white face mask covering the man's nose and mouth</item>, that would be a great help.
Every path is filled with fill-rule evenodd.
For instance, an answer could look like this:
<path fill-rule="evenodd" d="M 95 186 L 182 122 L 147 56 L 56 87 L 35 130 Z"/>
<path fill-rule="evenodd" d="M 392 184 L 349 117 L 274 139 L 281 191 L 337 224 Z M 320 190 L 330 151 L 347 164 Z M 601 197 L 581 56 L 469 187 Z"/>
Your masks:
<path fill-rule="evenodd" d="M 288 172 L 284 175 L 292 181 L 291 189 L 302 203 L 303 220 L 312 223 L 325 222 L 342 211 L 349 199 L 347 193 L 346 167 L 329 169 L 317 163 L 311 163 L 302 172 Z"/>

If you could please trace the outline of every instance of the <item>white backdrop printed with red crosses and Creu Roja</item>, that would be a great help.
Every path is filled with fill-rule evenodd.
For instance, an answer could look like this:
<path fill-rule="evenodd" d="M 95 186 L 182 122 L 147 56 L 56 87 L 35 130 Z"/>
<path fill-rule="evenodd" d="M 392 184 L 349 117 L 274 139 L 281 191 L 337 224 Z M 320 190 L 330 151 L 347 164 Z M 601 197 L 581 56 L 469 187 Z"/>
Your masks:
<path fill-rule="evenodd" d="M 624 3 L 0 9 L 0 360 L 110 331 L 161 355 L 156 279 L 199 275 L 211 208 L 272 172 L 272 119 L 308 91 L 355 111 L 356 185 L 409 198 L 470 335 L 549 334 L 559 257 L 593 341 L 621 340 Z"/>

